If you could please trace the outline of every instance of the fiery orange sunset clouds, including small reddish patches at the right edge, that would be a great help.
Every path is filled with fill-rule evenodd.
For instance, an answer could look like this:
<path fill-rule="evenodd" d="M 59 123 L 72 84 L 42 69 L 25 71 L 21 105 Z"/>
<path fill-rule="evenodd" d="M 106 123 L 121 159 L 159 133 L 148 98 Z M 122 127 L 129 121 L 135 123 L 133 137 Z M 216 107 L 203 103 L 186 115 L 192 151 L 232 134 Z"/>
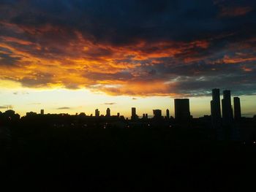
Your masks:
<path fill-rule="evenodd" d="M 173 77 L 171 71 L 165 74 L 165 69 L 159 69 L 162 74 L 157 74 L 155 68 L 206 61 L 209 55 L 202 53 L 211 47 L 211 38 L 187 42 L 138 39 L 118 46 L 94 42 L 79 31 L 69 34 L 67 28 L 50 25 L 20 26 L 18 31 L 32 36 L 29 40 L 0 36 L 0 79 L 31 88 L 88 88 L 110 95 L 176 96 L 178 85 L 172 78 L 179 74 L 176 72 Z M 223 61 L 236 64 L 255 58 L 225 56 Z M 200 74 L 199 69 L 191 72 Z"/>

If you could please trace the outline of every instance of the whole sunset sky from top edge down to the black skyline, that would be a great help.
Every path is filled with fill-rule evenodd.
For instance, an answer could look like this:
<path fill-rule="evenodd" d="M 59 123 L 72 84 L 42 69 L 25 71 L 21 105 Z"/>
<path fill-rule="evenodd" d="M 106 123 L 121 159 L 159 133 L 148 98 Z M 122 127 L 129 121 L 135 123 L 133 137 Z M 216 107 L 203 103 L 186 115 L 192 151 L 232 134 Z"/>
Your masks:
<path fill-rule="evenodd" d="M 130 116 L 231 90 L 256 115 L 256 1 L 0 0 L 0 111 Z"/>

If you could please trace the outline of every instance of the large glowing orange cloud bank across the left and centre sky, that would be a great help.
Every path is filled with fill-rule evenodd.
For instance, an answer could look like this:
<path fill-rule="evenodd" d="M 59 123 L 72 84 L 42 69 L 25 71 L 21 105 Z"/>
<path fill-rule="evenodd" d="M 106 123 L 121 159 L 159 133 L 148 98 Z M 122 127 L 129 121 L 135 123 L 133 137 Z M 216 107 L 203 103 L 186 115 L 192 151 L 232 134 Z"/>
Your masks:
<path fill-rule="evenodd" d="M 39 36 L 51 29 L 49 26 L 39 31 L 23 28 Z M 78 31 L 64 45 L 54 41 L 44 45 L 14 37 L 1 39 L 0 47 L 10 51 L 10 57 L 18 58 L 13 66 L 0 66 L 1 79 L 21 82 L 32 88 L 89 88 L 111 95 L 174 96 L 170 93 L 174 84 L 167 84 L 160 77 L 154 80 L 151 74 L 140 72 L 138 68 L 145 61 L 149 62 L 148 66 L 154 66 L 161 64 L 157 58 L 174 59 L 177 55 L 187 63 L 199 61 L 200 58 L 187 58 L 183 54 L 196 53 L 195 49 L 209 46 L 207 40 L 152 43 L 141 40 L 134 45 L 117 47 L 91 42 Z M 149 79 L 143 80 L 142 76 Z"/>

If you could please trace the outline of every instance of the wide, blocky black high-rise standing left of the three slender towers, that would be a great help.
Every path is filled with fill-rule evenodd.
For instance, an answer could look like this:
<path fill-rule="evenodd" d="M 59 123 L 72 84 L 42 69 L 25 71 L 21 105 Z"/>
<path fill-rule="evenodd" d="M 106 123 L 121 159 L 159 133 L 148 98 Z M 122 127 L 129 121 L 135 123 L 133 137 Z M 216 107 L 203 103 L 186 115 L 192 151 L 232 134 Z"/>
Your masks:
<path fill-rule="evenodd" d="M 190 120 L 189 99 L 174 99 L 175 119 L 181 122 Z"/>

